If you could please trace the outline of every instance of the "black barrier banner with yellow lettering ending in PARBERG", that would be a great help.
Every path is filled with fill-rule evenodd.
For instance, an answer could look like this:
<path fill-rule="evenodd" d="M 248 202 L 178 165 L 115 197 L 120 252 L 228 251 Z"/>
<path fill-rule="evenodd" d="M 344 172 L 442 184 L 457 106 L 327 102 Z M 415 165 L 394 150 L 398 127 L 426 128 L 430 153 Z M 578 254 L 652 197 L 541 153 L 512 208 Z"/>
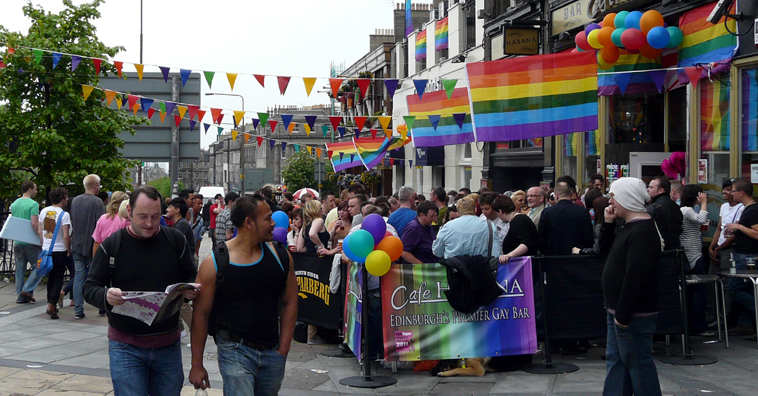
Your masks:
<path fill-rule="evenodd" d="M 339 296 L 329 288 L 333 256 L 318 257 L 292 253 L 297 278 L 297 320 L 337 330 L 340 320 Z"/>

